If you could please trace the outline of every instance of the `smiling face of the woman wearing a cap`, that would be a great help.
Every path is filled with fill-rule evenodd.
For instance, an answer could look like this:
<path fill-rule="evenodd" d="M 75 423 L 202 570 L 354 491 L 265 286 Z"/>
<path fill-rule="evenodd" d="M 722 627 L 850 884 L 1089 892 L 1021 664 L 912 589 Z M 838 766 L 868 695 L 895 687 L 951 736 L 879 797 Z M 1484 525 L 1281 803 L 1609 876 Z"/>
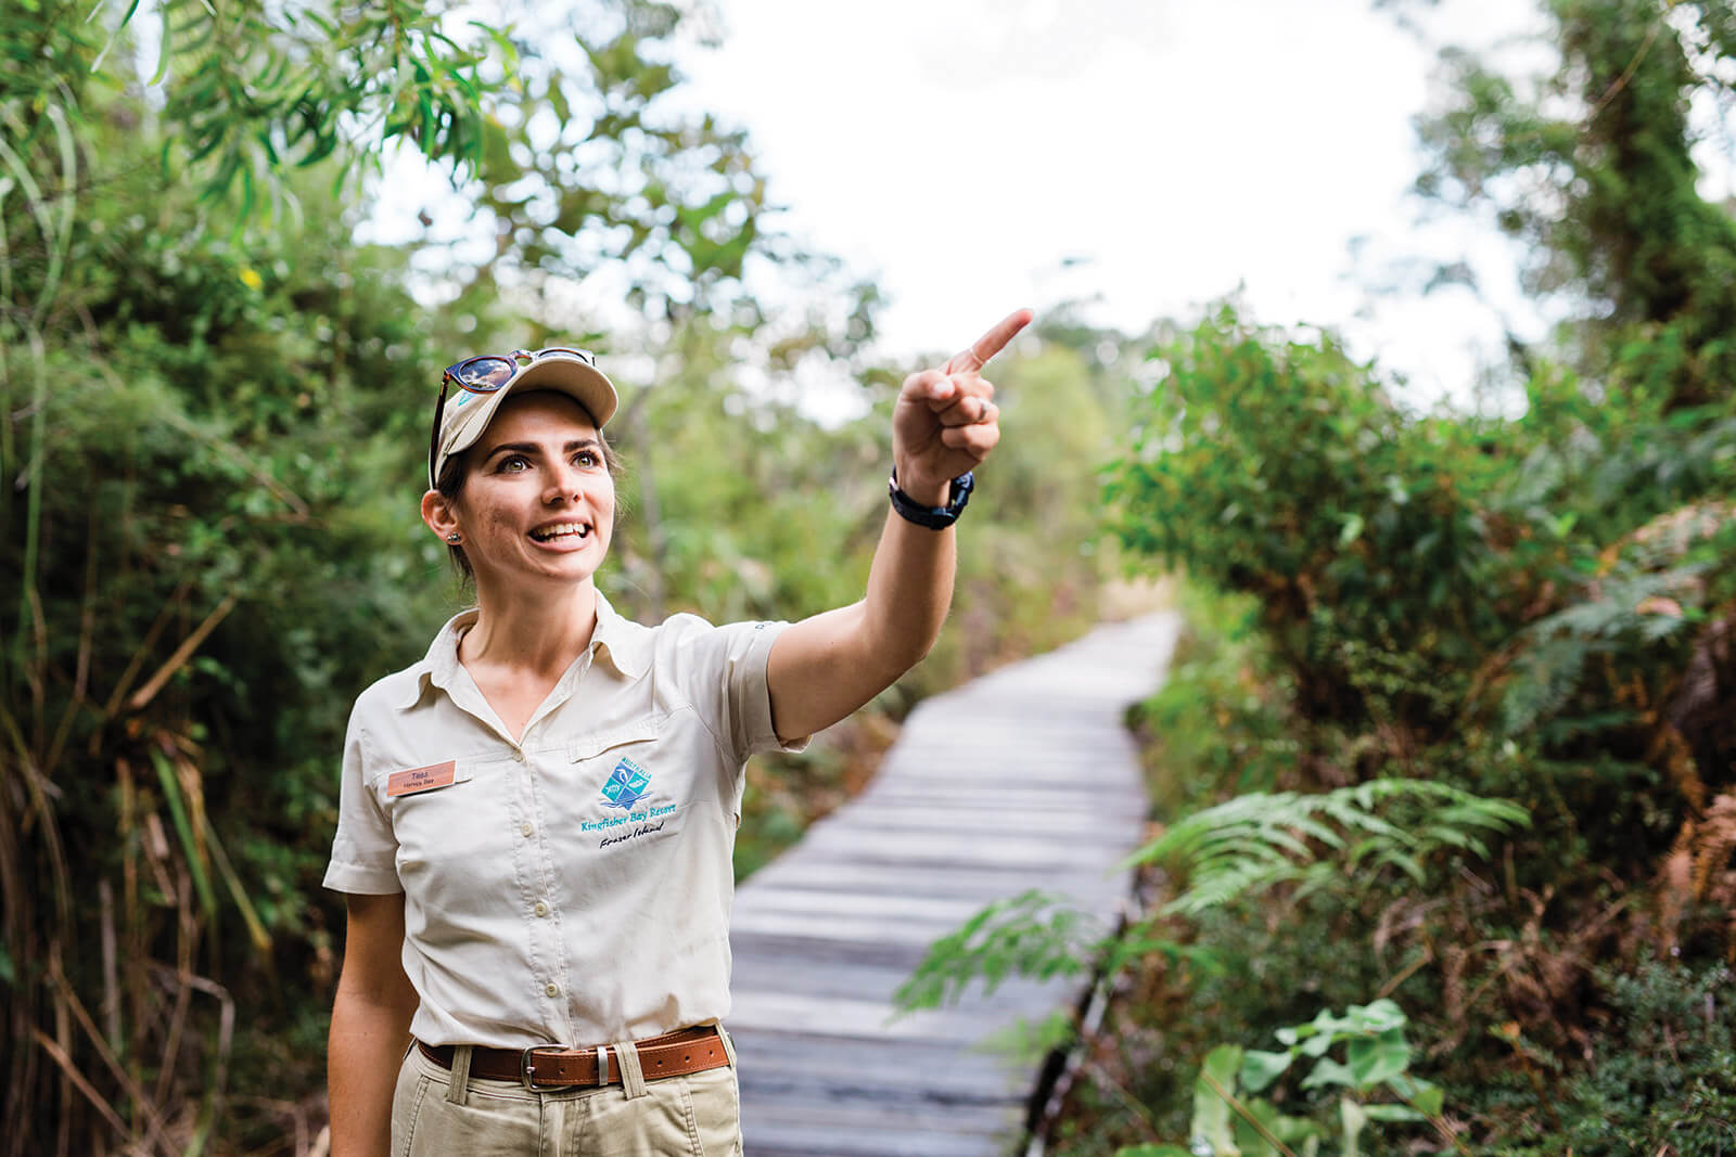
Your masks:
<path fill-rule="evenodd" d="M 451 512 L 477 592 L 595 574 L 615 531 L 615 479 L 585 408 L 552 392 L 509 397 L 467 451 Z"/>

